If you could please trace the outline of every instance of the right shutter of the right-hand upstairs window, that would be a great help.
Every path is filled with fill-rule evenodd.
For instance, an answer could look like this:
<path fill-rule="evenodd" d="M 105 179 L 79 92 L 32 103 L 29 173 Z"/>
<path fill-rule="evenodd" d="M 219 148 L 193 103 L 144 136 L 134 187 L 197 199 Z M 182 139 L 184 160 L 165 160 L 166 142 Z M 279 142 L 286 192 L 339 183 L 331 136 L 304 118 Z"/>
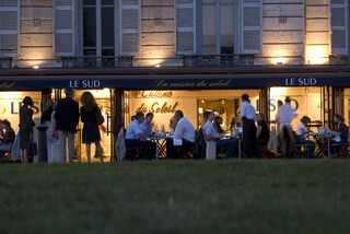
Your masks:
<path fill-rule="evenodd" d="M 261 54 L 262 0 L 242 0 L 242 54 Z"/>

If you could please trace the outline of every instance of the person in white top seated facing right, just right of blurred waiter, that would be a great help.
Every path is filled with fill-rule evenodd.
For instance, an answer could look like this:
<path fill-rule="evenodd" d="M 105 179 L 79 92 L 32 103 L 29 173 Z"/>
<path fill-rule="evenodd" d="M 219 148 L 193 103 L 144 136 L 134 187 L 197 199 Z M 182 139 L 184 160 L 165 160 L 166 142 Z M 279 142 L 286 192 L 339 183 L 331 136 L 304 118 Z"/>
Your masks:
<path fill-rule="evenodd" d="M 307 136 L 312 132 L 312 130 L 306 129 L 306 126 L 310 125 L 311 119 L 307 116 L 303 116 L 300 120 L 300 125 L 296 129 L 296 143 L 299 144 L 311 144 L 311 147 L 306 148 L 307 157 L 314 157 L 315 153 L 315 142 L 307 139 Z"/>

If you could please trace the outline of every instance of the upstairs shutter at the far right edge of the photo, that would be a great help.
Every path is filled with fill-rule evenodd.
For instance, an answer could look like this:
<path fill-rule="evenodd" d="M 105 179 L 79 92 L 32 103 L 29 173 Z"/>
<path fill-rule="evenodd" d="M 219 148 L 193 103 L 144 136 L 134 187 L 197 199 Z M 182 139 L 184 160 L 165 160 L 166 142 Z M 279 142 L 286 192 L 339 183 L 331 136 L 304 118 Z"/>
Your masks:
<path fill-rule="evenodd" d="M 348 54 L 348 0 L 330 0 L 331 54 Z"/>

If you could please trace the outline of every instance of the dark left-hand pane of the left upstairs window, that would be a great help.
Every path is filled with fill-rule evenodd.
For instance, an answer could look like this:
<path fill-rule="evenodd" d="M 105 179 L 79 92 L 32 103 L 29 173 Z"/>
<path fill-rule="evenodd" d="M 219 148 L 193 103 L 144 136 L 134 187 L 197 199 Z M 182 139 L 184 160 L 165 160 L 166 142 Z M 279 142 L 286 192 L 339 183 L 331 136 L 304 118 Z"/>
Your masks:
<path fill-rule="evenodd" d="M 84 47 L 96 47 L 96 9 L 84 8 Z"/>

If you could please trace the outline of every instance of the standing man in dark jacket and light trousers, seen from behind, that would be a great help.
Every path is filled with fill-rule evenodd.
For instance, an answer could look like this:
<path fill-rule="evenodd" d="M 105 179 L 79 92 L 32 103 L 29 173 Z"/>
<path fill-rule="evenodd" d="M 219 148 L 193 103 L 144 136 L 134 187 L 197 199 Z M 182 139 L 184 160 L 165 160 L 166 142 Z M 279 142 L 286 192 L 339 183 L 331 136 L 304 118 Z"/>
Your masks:
<path fill-rule="evenodd" d="M 56 106 L 55 119 L 56 129 L 61 144 L 61 154 L 63 162 L 67 161 L 66 156 L 66 138 L 68 138 L 69 162 L 73 162 L 74 154 L 74 133 L 79 122 L 79 104 L 73 101 L 73 89 L 66 87 L 66 98 L 59 100 Z"/>

